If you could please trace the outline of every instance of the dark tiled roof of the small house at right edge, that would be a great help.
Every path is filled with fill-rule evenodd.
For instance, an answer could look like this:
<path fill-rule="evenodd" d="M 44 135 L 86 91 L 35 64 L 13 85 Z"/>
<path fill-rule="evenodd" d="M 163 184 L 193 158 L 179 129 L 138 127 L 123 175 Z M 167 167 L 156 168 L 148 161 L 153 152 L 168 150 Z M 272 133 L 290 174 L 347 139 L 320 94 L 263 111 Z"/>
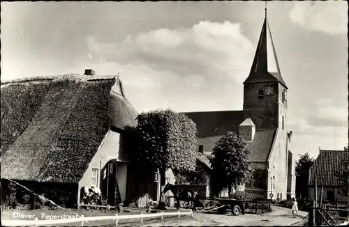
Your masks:
<path fill-rule="evenodd" d="M 343 182 L 336 176 L 343 171 L 343 162 L 348 160 L 348 151 L 344 150 L 320 150 L 313 166 L 309 171 L 309 185 L 341 187 Z"/>

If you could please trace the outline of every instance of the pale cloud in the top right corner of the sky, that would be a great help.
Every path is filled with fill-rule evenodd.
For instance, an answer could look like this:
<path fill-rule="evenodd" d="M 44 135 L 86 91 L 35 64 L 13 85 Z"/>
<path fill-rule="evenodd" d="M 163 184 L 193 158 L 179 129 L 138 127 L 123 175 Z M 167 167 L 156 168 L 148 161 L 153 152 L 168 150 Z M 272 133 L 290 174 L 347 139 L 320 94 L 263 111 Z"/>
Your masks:
<path fill-rule="evenodd" d="M 304 29 L 336 35 L 348 32 L 347 13 L 346 1 L 298 1 L 290 18 Z"/>

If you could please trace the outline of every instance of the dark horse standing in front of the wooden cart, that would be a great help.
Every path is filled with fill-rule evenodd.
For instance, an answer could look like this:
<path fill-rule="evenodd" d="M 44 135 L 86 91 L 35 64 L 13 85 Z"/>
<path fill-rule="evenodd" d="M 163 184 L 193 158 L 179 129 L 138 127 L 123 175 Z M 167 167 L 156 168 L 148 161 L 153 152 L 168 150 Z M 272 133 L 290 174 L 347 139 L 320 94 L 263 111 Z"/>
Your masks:
<path fill-rule="evenodd" d="M 163 193 L 166 193 L 168 190 L 172 192 L 177 201 L 177 210 L 179 210 L 179 201 L 189 203 L 191 210 L 196 210 L 196 205 L 198 205 L 199 202 L 198 191 L 188 189 L 183 189 L 180 191 L 177 185 L 172 185 L 170 183 L 165 186 Z"/>

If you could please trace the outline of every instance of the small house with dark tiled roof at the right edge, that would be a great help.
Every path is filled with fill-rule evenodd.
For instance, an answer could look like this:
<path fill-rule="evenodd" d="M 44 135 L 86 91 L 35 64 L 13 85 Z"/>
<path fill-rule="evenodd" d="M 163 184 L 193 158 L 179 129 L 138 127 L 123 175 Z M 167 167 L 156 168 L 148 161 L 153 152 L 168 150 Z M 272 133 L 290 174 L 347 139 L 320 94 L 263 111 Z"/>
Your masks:
<path fill-rule="evenodd" d="M 327 201 L 346 201 L 343 195 L 343 187 L 347 184 L 341 180 L 340 173 L 347 168 L 346 163 L 349 161 L 349 152 L 345 150 L 321 150 L 315 159 L 313 166 L 309 170 L 309 189 L 308 197 L 314 198 L 315 180 L 318 191 L 323 186 L 322 198 Z M 318 192 L 320 200 L 320 192 Z"/>

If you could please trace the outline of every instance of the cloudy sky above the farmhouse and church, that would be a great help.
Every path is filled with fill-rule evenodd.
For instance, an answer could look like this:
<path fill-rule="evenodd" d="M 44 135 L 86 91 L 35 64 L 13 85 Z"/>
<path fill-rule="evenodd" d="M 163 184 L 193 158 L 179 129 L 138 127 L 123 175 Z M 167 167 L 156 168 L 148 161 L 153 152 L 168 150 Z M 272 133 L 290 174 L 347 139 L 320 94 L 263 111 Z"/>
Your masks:
<path fill-rule="evenodd" d="M 269 1 L 290 150 L 348 144 L 348 4 Z M 263 1 L 3 2 L 1 80 L 117 75 L 139 111 L 241 110 Z"/>

